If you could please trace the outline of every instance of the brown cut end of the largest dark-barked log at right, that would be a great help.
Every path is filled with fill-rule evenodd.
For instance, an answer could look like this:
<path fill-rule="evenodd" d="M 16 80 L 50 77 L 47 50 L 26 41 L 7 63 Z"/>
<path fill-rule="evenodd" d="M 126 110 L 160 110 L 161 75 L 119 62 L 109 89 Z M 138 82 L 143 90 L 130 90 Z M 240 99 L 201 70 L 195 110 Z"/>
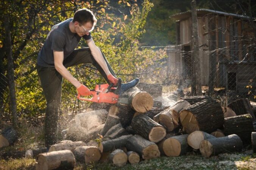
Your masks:
<path fill-rule="evenodd" d="M 180 121 L 186 133 L 192 133 L 193 131 L 200 130 L 195 116 L 190 111 L 181 111 Z"/>

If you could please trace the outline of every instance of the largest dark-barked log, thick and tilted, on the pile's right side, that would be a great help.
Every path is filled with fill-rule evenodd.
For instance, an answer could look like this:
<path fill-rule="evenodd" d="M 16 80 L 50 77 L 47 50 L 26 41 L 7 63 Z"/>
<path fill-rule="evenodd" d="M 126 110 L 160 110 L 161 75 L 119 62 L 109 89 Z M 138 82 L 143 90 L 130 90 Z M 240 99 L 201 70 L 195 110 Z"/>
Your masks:
<path fill-rule="evenodd" d="M 182 110 L 180 122 L 186 133 L 196 130 L 211 133 L 223 126 L 224 114 L 220 104 L 208 98 Z"/>

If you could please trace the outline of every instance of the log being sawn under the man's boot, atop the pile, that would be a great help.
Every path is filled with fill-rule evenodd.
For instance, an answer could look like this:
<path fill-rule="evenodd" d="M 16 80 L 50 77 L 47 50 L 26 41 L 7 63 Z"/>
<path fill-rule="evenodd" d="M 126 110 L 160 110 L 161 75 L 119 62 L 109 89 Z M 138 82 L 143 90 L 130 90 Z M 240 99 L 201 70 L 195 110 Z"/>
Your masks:
<path fill-rule="evenodd" d="M 145 91 L 140 91 L 137 87 L 126 92 L 129 96 L 131 108 L 137 112 L 145 113 L 153 107 L 153 97 Z"/>

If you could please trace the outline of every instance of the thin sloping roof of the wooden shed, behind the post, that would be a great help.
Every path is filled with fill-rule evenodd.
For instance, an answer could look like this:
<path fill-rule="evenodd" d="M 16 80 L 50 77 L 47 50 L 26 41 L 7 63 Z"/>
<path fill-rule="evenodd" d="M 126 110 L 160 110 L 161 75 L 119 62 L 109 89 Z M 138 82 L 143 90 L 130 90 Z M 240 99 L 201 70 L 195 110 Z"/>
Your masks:
<path fill-rule="evenodd" d="M 232 14 L 232 13 L 228 13 L 228 12 L 215 11 L 215 10 L 211 10 L 211 9 L 197 9 L 197 16 L 198 17 L 206 15 L 206 14 L 210 14 L 210 13 L 215 13 L 215 14 L 219 14 L 219 15 L 233 16 L 233 17 L 242 18 L 242 19 L 250 19 L 250 17 L 248 17 L 246 15 Z M 191 17 L 191 10 L 186 11 L 186 12 L 181 12 L 181 13 L 174 14 L 174 15 L 170 16 L 170 18 L 175 18 L 175 19 L 178 19 L 178 20 L 187 19 L 189 17 Z"/>

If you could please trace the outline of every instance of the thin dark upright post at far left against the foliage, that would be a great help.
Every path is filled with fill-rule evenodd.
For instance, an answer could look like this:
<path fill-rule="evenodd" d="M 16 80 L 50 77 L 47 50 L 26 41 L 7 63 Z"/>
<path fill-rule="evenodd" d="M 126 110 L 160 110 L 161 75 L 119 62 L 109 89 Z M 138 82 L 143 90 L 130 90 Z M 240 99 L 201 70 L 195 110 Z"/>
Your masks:
<path fill-rule="evenodd" d="M 12 61 L 12 44 L 11 44 L 11 33 L 9 15 L 5 15 L 5 41 L 6 41 L 6 54 L 8 59 L 8 79 L 9 79 L 9 90 L 11 97 L 11 113 L 12 113 L 12 125 L 17 128 L 17 108 L 16 108 L 16 96 L 15 96 L 15 83 L 14 83 L 14 70 Z"/>

